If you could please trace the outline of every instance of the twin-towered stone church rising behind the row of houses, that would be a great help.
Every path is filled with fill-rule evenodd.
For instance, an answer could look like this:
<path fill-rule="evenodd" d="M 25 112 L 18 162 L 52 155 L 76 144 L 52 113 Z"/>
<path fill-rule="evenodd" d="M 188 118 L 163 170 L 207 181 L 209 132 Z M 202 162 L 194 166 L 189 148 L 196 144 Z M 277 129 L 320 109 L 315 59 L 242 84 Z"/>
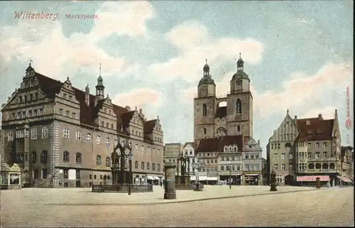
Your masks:
<path fill-rule="evenodd" d="M 203 77 L 194 99 L 194 139 L 212 139 L 219 136 L 253 136 L 253 96 L 249 75 L 244 72 L 244 61 L 239 58 L 237 72 L 231 77 L 226 97 L 216 97 L 216 85 L 203 67 Z M 226 103 L 222 107 L 219 104 Z"/>

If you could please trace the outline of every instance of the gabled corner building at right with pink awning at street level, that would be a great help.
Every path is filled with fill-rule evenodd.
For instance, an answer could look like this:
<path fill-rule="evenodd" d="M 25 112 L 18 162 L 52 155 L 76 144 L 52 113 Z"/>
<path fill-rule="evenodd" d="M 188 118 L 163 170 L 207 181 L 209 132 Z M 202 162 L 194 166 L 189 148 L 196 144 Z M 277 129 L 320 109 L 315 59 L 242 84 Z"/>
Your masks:
<path fill-rule="evenodd" d="M 277 173 L 279 185 L 339 184 L 340 133 L 337 110 L 334 119 L 291 119 L 288 112 L 267 146 L 268 174 Z"/>

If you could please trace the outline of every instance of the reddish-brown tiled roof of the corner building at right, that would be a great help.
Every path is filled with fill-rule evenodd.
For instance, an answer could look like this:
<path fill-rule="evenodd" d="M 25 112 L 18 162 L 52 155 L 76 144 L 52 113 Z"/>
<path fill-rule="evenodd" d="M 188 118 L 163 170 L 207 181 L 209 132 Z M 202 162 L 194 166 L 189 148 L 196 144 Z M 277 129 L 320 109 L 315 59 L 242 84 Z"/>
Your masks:
<path fill-rule="evenodd" d="M 300 129 L 299 141 L 331 140 L 334 119 L 308 118 L 297 119 L 297 127 Z"/>

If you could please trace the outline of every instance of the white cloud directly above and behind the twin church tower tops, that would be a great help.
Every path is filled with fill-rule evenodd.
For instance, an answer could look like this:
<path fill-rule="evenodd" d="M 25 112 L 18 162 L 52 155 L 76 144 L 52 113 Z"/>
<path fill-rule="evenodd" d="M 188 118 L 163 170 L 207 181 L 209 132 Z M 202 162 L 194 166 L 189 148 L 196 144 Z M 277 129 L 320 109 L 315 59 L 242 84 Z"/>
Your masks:
<path fill-rule="evenodd" d="M 166 40 L 178 50 L 179 55 L 164 63 L 155 63 L 148 67 L 148 72 L 160 82 L 182 77 L 188 82 L 195 82 L 202 75 L 204 59 L 207 58 L 214 69 L 223 64 L 233 63 L 234 58 L 243 54 L 243 60 L 249 64 L 261 61 L 263 44 L 252 38 L 211 38 L 207 28 L 196 21 L 187 21 L 173 27 L 165 34 Z"/>

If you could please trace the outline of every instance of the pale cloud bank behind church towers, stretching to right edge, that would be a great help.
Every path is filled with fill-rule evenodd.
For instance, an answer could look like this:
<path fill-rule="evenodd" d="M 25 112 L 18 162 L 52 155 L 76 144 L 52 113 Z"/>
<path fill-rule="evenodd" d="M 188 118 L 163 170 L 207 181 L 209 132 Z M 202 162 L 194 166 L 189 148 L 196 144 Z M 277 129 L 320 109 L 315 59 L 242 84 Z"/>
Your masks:
<path fill-rule="evenodd" d="M 339 106 L 339 99 L 345 96 L 347 85 L 352 83 L 353 63 L 326 63 L 315 75 L 307 75 L 304 72 L 294 72 L 289 80 L 285 80 L 281 89 L 258 92 L 251 85 L 253 94 L 254 118 L 266 119 L 269 116 L 285 112 L 303 114 L 302 116 L 318 116 L 322 113 L 324 118 L 334 117 L 334 107 Z M 233 72 L 229 72 L 217 82 L 217 96 L 225 96 L 229 91 L 229 80 Z M 324 99 L 331 93 L 332 100 Z M 197 86 L 182 91 L 182 97 L 186 102 L 192 102 L 197 94 Z M 343 97 L 342 97 L 343 96 Z M 315 107 L 326 107 L 317 109 Z"/>

